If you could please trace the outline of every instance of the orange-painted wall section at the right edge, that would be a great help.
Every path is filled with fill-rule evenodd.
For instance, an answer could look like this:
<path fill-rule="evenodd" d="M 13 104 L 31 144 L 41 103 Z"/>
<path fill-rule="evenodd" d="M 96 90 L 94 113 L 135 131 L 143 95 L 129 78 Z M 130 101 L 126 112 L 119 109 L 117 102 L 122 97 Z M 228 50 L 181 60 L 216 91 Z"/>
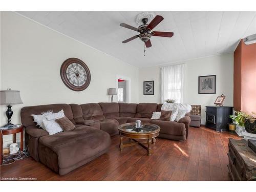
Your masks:
<path fill-rule="evenodd" d="M 256 112 L 256 44 L 243 40 L 234 51 L 234 110 Z"/>

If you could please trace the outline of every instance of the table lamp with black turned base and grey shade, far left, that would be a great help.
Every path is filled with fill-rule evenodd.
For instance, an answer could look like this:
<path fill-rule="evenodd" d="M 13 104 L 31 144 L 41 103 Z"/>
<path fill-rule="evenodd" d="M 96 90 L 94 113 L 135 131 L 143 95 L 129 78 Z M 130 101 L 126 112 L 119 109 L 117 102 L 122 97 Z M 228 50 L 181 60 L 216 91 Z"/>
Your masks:
<path fill-rule="evenodd" d="M 5 124 L 5 127 L 11 127 L 13 124 L 11 123 L 11 117 L 13 114 L 12 111 L 12 104 L 22 104 L 22 99 L 20 98 L 19 91 L 13 91 L 13 90 L 5 90 L 5 91 L 0 91 L 0 105 L 6 105 L 7 106 L 7 111 L 5 112 L 7 118 L 8 118 L 8 123 Z"/>

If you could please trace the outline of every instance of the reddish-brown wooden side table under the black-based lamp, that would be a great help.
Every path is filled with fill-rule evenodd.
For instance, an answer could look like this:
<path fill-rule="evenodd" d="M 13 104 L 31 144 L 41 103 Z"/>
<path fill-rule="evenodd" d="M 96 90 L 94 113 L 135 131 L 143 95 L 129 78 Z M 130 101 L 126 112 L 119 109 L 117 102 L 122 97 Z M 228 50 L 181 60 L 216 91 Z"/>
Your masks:
<path fill-rule="evenodd" d="M 16 143 L 16 134 L 20 133 L 20 151 L 23 151 L 23 130 L 24 126 L 22 125 L 13 129 L 0 131 L 0 165 L 3 164 L 3 136 L 12 134 L 13 142 Z"/>

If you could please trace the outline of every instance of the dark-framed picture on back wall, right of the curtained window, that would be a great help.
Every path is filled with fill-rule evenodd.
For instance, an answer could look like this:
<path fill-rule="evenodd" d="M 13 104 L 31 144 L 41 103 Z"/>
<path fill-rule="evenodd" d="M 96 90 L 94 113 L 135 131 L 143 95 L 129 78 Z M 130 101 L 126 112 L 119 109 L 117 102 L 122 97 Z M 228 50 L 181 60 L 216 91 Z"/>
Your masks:
<path fill-rule="evenodd" d="M 198 94 L 216 94 L 216 75 L 198 77 Z"/>

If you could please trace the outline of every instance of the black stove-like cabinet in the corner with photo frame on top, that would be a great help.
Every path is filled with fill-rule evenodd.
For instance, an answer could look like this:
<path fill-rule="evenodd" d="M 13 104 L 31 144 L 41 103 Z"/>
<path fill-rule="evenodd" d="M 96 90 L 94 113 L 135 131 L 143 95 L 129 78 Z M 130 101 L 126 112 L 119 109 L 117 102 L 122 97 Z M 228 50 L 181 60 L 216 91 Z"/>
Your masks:
<path fill-rule="evenodd" d="M 228 131 L 228 123 L 232 123 L 229 115 L 232 114 L 232 106 L 206 106 L 205 126 L 216 131 Z"/>

